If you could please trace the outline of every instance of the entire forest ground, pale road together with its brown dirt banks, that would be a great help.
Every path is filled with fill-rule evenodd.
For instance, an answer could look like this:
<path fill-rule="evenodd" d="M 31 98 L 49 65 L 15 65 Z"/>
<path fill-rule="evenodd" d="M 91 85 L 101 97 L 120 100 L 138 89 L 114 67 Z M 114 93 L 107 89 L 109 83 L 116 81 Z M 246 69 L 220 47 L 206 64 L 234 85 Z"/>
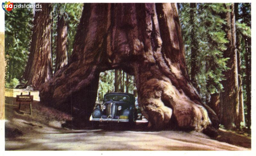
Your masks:
<path fill-rule="evenodd" d="M 5 97 L 5 150 L 251 150 L 250 136 L 223 129 L 214 139 L 195 131 L 150 131 L 145 123 L 74 130 L 63 127 L 70 115 L 36 100 L 32 108 L 32 115 L 22 113 L 14 97 Z"/>

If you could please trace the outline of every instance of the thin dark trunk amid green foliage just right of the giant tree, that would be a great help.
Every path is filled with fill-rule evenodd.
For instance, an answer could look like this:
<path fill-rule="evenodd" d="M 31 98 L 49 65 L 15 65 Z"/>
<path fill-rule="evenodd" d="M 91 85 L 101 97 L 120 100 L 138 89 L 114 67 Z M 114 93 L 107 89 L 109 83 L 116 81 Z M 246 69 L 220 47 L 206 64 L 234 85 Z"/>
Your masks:
<path fill-rule="evenodd" d="M 198 42 L 196 41 L 196 34 L 195 34 L 195 24 L 194 24 L 194 17 L 196 11 L 196 3 L 190 3 L 190 20 L 189 23 L 191 25 L 190 37 L 191 37 L 191 80 L 193 85 L 196 87 L 197 91 L 199 92 L 199 88 L 196 84 L 196 74 L 199 72 L 199 66 L 197 62 L 198 57 Z"/>

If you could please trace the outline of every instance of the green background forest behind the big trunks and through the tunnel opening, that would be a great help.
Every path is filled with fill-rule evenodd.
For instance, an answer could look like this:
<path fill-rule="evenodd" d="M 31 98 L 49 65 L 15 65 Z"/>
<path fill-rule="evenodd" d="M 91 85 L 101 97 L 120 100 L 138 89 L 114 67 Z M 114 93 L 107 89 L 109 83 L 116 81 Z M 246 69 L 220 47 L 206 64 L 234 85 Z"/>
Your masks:
<path fill-rule="evenodd" d="M 226 4 L 230 6 L 231 4 Z M 77 32 L 83 4 L 53 4 L 51 27 L 52 75 L 66 65 L 73 50 L 74 36 Z M 189 77 L 200 93 L 202 100 L 212 107 L 220 102 L 225 84 L 225 74 L 229 57 L 227 50 L 229 40 L 226 27 L 228 22 L 224 14 L 232 12 L 223 4 L 179 3 L 179 17 L 185 44 L 185 55 Z M 236 128 L 251 125 L 251 4 L 235 3 L 235 32 L 237 71 L 239 88 L 239 107 L 243 109 L 242 120 Z M 30 9 L 16 8 L 5 13 L 5 87 L 27 87 L 24 71 L 31 48 L 33 20 L 35 12 Z M 64 34 L 65 40 L 58 36 Z M 58 43 L 60 42 L 60 43 Z M 64 61 L 59 60 L 58 51 L 66 51 Z M 63 48 L 63 46 L 65 48 Z M 108 92 L 126 92 L 136 95 L 134 77 L 122 70 L 110 70 L 100 73 L 98 97 L 102 100 Z M 243 106 L 243 107 L 242 107 Z M 220 110 L 218 108 L 218 110 Z M 221 119 L 222 112 L 217 113 Z"/>

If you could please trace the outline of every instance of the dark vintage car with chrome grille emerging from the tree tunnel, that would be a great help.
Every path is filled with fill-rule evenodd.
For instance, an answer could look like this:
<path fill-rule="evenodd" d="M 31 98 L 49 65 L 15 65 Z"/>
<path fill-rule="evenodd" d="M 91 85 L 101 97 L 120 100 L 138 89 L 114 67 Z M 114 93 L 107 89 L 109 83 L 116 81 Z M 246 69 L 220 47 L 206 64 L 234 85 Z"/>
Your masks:
<path fill-rule="evenodd" d="M 92 112 L 90 121 L 97 128 L 100 122 L 116 122 L 134 124 L 137 120 L 135 98 L 130 93 L 107 93 L 102 105 Z"/>

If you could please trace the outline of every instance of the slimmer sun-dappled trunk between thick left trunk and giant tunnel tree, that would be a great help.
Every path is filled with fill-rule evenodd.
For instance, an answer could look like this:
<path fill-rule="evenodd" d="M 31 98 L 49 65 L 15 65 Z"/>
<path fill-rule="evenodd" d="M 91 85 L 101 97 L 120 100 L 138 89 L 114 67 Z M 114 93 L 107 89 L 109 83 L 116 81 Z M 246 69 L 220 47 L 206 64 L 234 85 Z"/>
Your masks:
<path fill-rule="evenodd" d="M 68 50 L 67 50 L 67 39 L 68 39 L 68 23 L 64 17 L 58 17 L 57 24 L 57 45 L 56 45 L 56 64 L 55 71 L 68 64 Z"/>

